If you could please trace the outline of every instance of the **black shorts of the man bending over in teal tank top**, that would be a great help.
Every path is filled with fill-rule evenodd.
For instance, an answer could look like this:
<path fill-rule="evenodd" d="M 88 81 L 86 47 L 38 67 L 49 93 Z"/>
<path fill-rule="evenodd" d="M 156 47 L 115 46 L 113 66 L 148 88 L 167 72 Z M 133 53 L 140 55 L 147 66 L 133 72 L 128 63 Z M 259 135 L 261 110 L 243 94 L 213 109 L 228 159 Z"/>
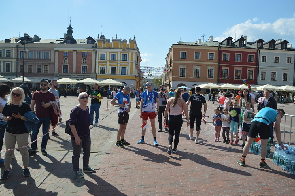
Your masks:
<path fill-rule="evenodd" d="M 253 121 L 251 122 L 251 127 L 248 133 L 248 137 L 256 138 L 259 133 L 260 139 L 268 139 L 269 138 L 269 130 L 270 127 L 268 124 L 263 122 Z"/>

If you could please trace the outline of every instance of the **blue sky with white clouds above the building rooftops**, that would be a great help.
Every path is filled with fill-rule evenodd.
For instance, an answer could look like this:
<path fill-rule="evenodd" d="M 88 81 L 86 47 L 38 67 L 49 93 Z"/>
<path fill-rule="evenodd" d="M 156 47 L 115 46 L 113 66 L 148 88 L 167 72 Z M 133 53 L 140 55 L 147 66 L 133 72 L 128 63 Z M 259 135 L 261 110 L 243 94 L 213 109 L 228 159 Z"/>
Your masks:
<path fill-rule="evenodd" d="M 172 44 L 210 36 L 287 40 L 295 44 L 294 0 L 31 0 L 0 1 L 0 40 L 12 37 L 63 38 L 69 26 L 73 37 L 133 39 L 140 50 L 140 66 L 164 66 Z M 102 26 L 102 28 L 101 28 Z"/>

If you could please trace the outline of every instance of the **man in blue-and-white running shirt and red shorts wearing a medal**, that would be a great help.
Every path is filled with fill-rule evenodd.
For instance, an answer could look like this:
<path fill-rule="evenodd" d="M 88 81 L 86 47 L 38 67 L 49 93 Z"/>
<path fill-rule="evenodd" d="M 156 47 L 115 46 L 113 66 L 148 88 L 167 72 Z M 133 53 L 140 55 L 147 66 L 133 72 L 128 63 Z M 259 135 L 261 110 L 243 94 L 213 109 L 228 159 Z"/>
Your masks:
<path fill-rule="evenodd" d="M 151 82 L 147 82 L 146 85 L 147 90 L 142 92 L 140 98 L 140 117 L 142 118 L 142 124 L 147 124 L 148 118 L 150 118 L 150 126 L 152 127 L 152 133 L 154 137 L 154 145 L 159 146 L 156 141 L 156 127 L 155 127 L 155 117 L 158 115 L 159 108 L 159 95 L 156 91 L 153 90 L 153 85 Z M 156 109 L 157 104 L 157 110 Z M 141 129 L 141 139 L 137 142 L 137 144 L 145 143 L 145 129 Z"/>

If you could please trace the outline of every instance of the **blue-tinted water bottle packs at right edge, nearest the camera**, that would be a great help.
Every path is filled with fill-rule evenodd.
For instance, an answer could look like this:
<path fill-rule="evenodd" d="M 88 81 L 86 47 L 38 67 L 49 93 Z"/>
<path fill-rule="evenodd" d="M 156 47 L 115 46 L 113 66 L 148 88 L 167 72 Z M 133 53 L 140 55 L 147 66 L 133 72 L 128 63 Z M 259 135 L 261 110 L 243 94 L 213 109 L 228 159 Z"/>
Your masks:
<path fill-rule="evenodd" d="M 288 149 L 282 150 L 278 144 L 275 145 L 275 153 L 273 154 L 273 164 L 281 166 L 287 171 L 287 174 L 295 175 L 295 148 L 283 144 Z"/>

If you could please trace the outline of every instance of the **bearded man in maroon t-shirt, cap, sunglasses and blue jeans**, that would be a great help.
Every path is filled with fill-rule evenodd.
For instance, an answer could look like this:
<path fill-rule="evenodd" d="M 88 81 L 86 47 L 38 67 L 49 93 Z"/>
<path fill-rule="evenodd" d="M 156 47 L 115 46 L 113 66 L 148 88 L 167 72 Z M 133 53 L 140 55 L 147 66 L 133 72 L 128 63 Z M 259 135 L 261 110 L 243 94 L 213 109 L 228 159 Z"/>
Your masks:
<path fill-rule="evenodd" d="M 50 117 L 51 117 L 51 104 L 49 102 L 56 102 L 55 96 L 52 92 L 47 91 L 48 81 L 41 80 L 40 82 L 40 91 L 37 91 L 33 94 L 32 102 L 31 102 L 31 110 L 34 112 L 35 104 L 36 104 L 36 116 L 39 118 L 39 123 L 37 123 L 33 129 L 33 133 L 31 135 L 31 142 L 37 139 L 39 129 L 42 125 L 42 134 L 48 133 L 48 127 L 50 125 Z M 48 136 L 45 135 L 42 137 L 41 143 L 41 151 L 42 155 L 46 156 L 47 152 L 45 151 L 47 146 Z M 36 154 L 37 149 L 37 141 L 32 143 L 31 150 L 29 151 L 29 155 L 32 156 Z"/>

